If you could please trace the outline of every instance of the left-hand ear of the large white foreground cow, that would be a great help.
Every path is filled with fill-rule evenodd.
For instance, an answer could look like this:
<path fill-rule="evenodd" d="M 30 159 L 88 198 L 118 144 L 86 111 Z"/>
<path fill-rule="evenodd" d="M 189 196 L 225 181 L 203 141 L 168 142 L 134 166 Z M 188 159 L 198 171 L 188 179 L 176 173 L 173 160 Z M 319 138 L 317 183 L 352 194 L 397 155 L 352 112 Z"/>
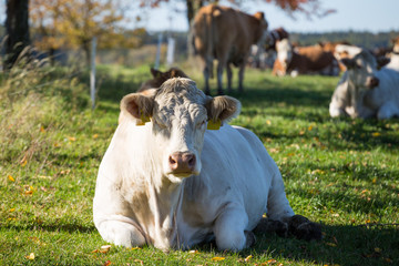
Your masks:
<path fill-rule="evenodd" d="M 154 98 L 152 91 L 146 90 L 145 93 L 131 93 L 125 95 L 121 101 L 121 112 L 136 119 L 137 125 L 150 122 L 154 108 Z"/>

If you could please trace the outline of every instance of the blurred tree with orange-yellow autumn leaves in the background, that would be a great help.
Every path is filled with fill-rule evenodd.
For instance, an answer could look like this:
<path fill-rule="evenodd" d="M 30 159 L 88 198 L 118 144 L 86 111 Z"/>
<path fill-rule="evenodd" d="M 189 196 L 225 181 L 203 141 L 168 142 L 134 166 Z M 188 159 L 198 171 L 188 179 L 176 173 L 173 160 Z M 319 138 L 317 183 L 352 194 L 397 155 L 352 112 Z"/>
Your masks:
<path fill-rule="evenodd" d="M 41 34 L 37 45 L 48 51 L 62 45 L 82 48 L 90 62 L 90 43 L 113 47 L 124 38 L 119 23 L 125 20 L 115 0 L 31 0 L 32 23 Z"/>

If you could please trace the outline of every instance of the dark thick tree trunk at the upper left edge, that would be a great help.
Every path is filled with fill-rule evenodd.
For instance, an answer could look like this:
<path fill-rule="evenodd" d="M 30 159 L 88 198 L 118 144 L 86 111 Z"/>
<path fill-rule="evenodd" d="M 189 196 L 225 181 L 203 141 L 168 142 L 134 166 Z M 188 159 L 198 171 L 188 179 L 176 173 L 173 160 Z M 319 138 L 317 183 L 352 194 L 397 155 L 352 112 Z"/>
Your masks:
<path fill-rule="evenodd" d="M 7 0 L 4 70 L 10 70 L 30 44 L 29 0 Z"/>

